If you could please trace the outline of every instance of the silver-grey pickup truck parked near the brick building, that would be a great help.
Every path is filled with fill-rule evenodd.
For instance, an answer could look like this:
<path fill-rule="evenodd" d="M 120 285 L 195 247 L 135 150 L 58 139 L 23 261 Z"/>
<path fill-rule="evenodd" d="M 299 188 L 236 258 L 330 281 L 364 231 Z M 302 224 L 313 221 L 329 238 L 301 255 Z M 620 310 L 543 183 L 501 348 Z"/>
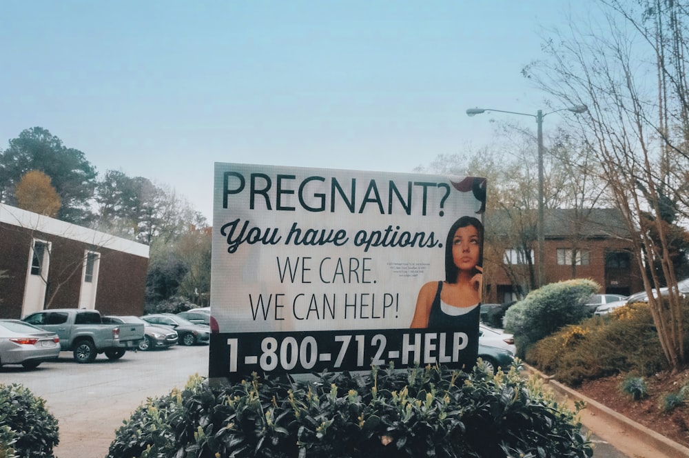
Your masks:
<path fill-rule="evenodd" d="M 55 332 L 62 350 L 74 352 L 78 363 L 91 363 L 99 353 L 119 359 L 127 350 L 136 350 L 144 338 L 143 324 L 103 323 L 97 310 L 53 308 L 32 313 L 23 321 Z"/>

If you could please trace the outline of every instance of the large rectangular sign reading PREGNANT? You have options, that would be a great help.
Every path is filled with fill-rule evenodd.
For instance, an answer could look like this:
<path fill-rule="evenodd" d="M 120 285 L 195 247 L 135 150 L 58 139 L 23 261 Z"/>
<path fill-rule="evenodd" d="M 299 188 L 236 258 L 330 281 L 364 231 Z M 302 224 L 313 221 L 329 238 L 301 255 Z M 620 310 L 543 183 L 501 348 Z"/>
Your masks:
<path fill-rule="evenodd" d="M 216 163 L 209 377 L 473 366 L 486 181 Z"/>

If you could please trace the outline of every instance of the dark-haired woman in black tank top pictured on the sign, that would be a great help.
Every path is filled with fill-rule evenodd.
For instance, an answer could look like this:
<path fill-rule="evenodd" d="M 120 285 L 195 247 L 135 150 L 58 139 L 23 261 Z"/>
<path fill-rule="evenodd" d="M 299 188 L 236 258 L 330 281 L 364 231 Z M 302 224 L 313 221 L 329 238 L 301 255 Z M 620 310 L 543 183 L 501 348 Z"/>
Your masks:
<path fill-rule="evenodd" d="M 478 328 L 482 287 L 483 225 L 461 217 L 445 243 L 445 281 L 429 281 L 419 291 L 411 328 Z"/>

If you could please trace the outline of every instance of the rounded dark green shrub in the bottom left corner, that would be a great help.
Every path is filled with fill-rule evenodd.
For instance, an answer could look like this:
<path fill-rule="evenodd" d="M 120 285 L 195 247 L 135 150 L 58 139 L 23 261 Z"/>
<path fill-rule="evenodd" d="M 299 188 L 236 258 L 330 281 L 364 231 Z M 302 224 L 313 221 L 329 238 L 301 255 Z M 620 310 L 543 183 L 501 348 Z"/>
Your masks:
<path fill-rule="evenodd" d="M 12 446 L 20 457 L 52 457 L 60 441 L 57 420 L 45 401 L 20 384 L 0 385 L 0 428 L 0 446 L 6 441 L 6 452 Z"/>

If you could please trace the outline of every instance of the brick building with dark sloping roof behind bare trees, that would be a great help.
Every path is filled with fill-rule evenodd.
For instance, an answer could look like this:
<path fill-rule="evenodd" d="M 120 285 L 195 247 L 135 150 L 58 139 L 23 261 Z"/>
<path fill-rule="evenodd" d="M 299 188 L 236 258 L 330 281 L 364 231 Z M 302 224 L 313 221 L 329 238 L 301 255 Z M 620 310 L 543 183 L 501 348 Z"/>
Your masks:
<path fill-rule="evenodd" d="M 531 217 L 532 227 L 535 215 Z M 593 279 L 601 293 L 630 295 L 644 289 L 639 265 L 633 257 L 630 233 L 619 210 L 552 209 L 544 217 L 544 281 L 553 283 L 573 278 Z M 533 250 L 510 246 L 508 228 L 515 223 L 506 212 L 486 219 L 484 303 L 504 303 L 528 292 L 528 281 L 537 276 L 537 245 Z M 531 263 L 528 262 L 531 259 Z"/>

